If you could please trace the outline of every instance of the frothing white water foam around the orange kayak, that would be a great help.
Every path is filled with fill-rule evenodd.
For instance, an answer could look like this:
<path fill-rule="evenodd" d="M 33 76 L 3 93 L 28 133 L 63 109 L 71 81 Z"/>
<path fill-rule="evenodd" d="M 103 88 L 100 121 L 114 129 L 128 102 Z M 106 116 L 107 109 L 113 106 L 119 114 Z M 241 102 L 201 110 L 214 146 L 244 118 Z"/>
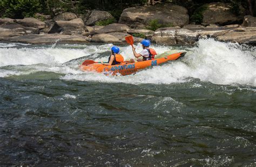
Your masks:
<path fill-rule="evenodd" d="M 244 49 L 237 43 L 225 43 L 214 39 L 201 39 L 198 46 L 183 47 L 174 50 L 171 46 L 156 46 L 158 54 L 169 50 L 169 53 L 184 52 L 183 59 L 166 63 L 163 66 L 153 67 L 129 76 L 105 76 L 96 72 L 83 72 L 77 67 L 63 66 L 60 63 L 76 59 L 85 55 L 102 53 L 110 50 L 109 45 L 90 45 L 83 49 L 73 48 L 0 48 L 0 66 L 14 64 L 35 64 L 36 71 L 52 71 L 66 74 L 62 79 L 75 79 L 80 81 L 130 83 L 130 84 L 170 84 L 189 82 L 191 78 L 198 78 L 204 82 L 214 84 L 241 84 L 256 86 L 256 49 Z M 185 49 L 185 50 L 184 50 Z M 125 60 L 134 58 L 130 46 L 121 46 L 120 54 Z M 136 45 L 137 52 L 142 50 Z M 106 61 L 106 55 L 95 57 L 95 61 Z M 91 58 L 92 59 L 92 58 Z M 44 64 L 43 67 L 38 66 Z M 15 69 L 17 71 L 17 69 Z M 18 70 L 19 71 L 19 70 Z M 2 77 L 8 76 L 4 71 Z M 14 72 L 9 71 L 11 75 Z M 31 70 L 33 72 L 33 70 Z M 1 73 L 1 71 L 0 71 Z M 18 73 L 17 73 L 18 74 Z"/>

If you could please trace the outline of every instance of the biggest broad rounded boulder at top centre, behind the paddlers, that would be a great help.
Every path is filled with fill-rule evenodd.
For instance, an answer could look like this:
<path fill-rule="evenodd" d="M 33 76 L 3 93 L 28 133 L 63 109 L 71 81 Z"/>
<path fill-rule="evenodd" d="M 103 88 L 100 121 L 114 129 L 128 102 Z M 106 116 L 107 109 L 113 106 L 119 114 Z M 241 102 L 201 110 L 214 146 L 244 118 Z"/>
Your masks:
<path fill-rule="evenodd" d="M 119 23 L 133 28 L 146 27 L 151 20 L 158 20 L 159 24 L 166 26 L 184 26 L 189 22 L 186 8 L 171 3 L 154 6 L 135 6 L 127 8 L 121 14 Z"/>

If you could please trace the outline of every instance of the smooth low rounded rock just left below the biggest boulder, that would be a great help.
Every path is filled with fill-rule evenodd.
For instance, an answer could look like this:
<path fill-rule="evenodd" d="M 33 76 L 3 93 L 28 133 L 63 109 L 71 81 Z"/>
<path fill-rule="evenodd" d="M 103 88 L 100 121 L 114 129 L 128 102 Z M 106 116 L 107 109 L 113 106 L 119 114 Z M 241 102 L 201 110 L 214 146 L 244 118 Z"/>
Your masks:
<path fill-rule="evenodd" d="M 96 30 L 95 33 L 102 34 L 111 32 L 127 32 L 128 30 L 130 30 L 130 28 L 125 24 L 113 23 L 103 28 L 100 28 L 99 30 Z"/>

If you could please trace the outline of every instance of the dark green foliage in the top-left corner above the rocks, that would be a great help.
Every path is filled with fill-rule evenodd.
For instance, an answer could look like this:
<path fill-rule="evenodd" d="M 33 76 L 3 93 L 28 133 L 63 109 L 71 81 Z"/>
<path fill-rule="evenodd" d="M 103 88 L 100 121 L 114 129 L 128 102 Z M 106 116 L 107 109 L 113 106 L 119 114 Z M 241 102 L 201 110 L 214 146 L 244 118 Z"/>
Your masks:
<path fill-rule="evenodd" d="M 1 0 L 0 9 L 4 17 L 24 18 L 41 11 L 42 5 L 39 0 Z"/>

